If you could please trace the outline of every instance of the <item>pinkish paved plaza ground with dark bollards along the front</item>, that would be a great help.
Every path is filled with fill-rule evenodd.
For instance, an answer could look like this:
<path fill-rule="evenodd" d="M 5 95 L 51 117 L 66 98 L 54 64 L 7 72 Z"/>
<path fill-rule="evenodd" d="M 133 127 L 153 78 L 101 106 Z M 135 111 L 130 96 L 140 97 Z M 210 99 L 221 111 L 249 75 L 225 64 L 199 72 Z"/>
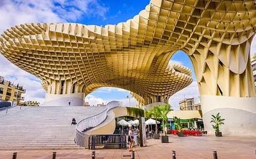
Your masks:
<path fill-rule="evenodd" d="M 140 159 L 170 159 L 171 150 L 176 151 L 177 159 L 210 159 L 213 158 L 213 150 L 217 150 L 219 159 L 255 159 L 255 137 L 169 137 L 169 144 L 161 144 L 160 140 L 147 140 L 147 147 L 137 147 L 135 158 Z M 12 158 L 9 150 L 0 151 L 0 159 Z M 46 159 L 52 158 L 53 150 L 21 150 L 17 151 L 17 159 Z M 56 150 L 57 158 L 89 159 L 91 150 L 70 149 Z M 130 158 L 128 150 L 96 150 L 96 159 Z"/>

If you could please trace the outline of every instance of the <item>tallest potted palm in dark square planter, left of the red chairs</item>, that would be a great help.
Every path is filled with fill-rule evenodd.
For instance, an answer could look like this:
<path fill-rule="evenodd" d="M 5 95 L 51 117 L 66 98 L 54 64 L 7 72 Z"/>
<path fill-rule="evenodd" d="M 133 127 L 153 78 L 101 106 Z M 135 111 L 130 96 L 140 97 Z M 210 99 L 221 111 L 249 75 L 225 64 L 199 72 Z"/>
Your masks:
<path fill-rule="evenodd" d="M 170 111 L 169 105 L 162 105 L 160 106 L 160 118 L 162 118 L 162 124 L 163 124 L 163 135 L 161 136 L 161 142 L 162 143 L 169 143 L 169 137 L 168 135 L 165 135 L 165 126 L 167 126 L 168 117 L 167 114 Z"/>

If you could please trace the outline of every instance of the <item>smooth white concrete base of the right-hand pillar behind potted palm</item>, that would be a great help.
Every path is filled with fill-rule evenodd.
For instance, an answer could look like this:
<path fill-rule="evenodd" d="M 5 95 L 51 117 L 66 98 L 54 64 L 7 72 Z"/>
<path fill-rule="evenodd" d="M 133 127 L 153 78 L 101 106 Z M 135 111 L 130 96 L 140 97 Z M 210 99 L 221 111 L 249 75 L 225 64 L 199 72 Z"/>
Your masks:
<path fill-rule="evenodd" d="M 256 97 L 222 97 L 216 95 L 201 95 L 204 129 L 214 134 L 211 126 L 211 114 L 224 119 L 221 126 L 222 135 L 256 136 Z"/>

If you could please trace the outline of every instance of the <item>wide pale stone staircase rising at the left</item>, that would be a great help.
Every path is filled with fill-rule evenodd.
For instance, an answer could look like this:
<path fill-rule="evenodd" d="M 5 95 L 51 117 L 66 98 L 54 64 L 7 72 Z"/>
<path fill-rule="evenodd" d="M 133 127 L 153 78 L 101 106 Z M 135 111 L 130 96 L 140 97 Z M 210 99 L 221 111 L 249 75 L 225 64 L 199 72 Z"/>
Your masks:
<path fill-rule="evenodd" d="M 19 106 L 0 111 L 0 150 L 80 148 L 75 142 L 76 122 L 98 114 L 102 107 Z"/>

